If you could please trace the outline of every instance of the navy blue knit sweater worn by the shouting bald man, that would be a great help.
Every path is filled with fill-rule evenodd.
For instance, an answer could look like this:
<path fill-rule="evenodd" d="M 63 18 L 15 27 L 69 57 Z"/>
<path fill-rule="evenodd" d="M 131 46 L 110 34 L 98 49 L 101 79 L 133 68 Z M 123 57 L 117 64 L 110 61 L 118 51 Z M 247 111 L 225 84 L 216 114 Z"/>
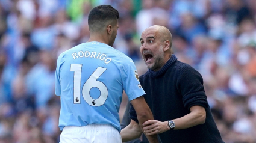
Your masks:
<path fill-rule="evenodd" d="M 183 117 L 195 105 L 206 110 L 204 124 L 161 133 L 159 137 L 162 143 L 223 142 L 207 102 L 202 76 L 190 65 L 177 61 L 176 56 L 172 55 L 159 71 L 148 70 L 140 76 L 140 82 L 155 120 L 167 121 Z M 133 106 L 130 108 L 130 118 L 137 121 Z"/>

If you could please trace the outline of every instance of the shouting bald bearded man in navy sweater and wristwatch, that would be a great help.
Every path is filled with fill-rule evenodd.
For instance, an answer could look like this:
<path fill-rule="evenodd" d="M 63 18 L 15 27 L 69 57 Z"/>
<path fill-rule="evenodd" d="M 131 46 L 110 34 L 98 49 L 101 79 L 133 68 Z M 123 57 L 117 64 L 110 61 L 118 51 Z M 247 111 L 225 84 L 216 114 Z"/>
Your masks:
<path fill-rule="evenodd" d="M 223 142 L 205 95 L 200 73 L 172 55 L 172 35 L 163 26 L 147 28 L 140 38 L 140 52 L 148 71 L 139 80 L 155 120 L 143 123 L 143 133 L 158 134 L 167 142 Z M 122 141 L 140 136 L 136 111 L 130 108 L 130 124 Z"/>

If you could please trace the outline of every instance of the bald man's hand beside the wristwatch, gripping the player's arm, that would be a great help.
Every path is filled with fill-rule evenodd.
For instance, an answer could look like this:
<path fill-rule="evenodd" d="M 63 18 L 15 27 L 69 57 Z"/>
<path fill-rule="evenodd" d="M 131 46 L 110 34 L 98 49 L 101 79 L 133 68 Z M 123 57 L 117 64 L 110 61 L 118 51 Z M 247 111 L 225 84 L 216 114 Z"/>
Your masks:
<path fill-rule="evenodd" d="M 157 120 L 148 120 L 145 121 L 143 124 L 143 133 L 146 133 L 146 135 L 154 135 L 158 133 L 166 132 L 167 130 L 170 130 L 170 127 L 168 126 L 168 121 L 161 122 Z M 169 127 L 169 128 L 168 128 Z"/>

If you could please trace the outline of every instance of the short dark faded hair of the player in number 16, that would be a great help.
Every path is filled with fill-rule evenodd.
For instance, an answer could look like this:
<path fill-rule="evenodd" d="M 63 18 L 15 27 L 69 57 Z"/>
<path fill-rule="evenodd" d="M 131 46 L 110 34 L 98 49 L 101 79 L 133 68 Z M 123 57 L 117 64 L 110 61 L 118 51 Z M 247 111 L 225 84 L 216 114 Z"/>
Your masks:
<path fill-rule="evenodd" d="M 119 13 L 111 5 L 99 5 L 90 11 L 88 25 L 91 32 L 101 31 L 110 22 L 116 22 Z"/>

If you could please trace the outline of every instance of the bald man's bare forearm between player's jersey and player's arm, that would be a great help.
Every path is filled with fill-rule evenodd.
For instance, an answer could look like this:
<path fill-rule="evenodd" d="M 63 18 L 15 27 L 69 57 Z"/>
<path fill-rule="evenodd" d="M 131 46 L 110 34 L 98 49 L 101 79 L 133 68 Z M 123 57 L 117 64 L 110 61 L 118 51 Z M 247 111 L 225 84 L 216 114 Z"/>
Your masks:
<path fill-rule="evenodd" d="M 120 135 L 122 136 L 122 142 L 128 142 L 136 138 L 140 138 L 142 130 L 135 121 L 131 120 L 130 124 L 121 130 Z"/>

